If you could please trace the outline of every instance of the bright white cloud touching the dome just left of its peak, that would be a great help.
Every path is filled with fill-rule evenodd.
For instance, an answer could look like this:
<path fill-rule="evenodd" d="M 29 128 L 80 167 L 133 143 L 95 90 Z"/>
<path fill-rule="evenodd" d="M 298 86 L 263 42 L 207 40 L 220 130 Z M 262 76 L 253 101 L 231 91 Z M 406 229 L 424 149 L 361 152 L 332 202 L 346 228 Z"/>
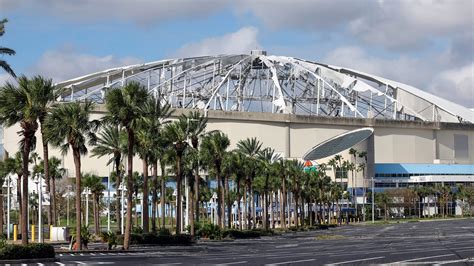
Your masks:
<path fill-rule="evenodd" d="M 248 54 L 251 50 L 260 47 L 257 36 L 257 28 L 244 27 L 236 32 L 185 44 L 176 51 L 174 56 Z"/>

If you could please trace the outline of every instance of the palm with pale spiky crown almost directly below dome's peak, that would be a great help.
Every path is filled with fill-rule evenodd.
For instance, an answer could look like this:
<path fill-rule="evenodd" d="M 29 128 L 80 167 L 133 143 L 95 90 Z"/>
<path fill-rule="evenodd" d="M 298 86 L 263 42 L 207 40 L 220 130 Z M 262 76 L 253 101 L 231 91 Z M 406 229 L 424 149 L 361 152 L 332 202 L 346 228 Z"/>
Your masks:
<path fill-rule="evenodd" d="M 248 160 L 248 175 L 247 175 L 247 190 L 248 194 L 250 197 L 250 204 L 249 204 L 249 210 L 247 212 L 248 216 L 248 222 L 247 222 L 247 229 L 250 229 L 250 219 L 253 216 L 253 226 L 255 227 L 257 224 L 257 217 L 256 217 L 256 208 L 255 208 L 255 200 L 253 198 L 253 191 L 252 191 L 252 181 L 255 178 L 256 174 L 256 168 L 257 168 L 257 163 L 256 163 L 256 158 L 258 156 L 258 153 L 262 149 L 262 143 L 257 140 L 257 138 L 246 138 L 244 140 L 240 140 L 237 143 L 237 149 L 239 152 L 245 154 L 249 160 Z M 252 206 L 252 207 L 250 207 Z M 253 212 L 253 213 L 251 213 Z"/>

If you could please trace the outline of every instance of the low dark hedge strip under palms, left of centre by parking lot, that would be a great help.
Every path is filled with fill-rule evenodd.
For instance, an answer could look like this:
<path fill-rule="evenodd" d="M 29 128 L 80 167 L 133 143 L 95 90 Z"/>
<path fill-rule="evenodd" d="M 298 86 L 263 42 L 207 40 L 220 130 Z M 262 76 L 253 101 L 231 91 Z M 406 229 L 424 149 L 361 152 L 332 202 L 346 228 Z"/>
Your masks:
<path fill-rule="evenodd" d="M 117 237 L 117 242 L 123 245 L 123 235 Z M 157 235 L 154 233 L 148 234 L 131 234 L 130 244 L 132 245 L 169 245 L 169 246 L 183 246 L 191 245 L 193 239 L 190 235 Z"/>

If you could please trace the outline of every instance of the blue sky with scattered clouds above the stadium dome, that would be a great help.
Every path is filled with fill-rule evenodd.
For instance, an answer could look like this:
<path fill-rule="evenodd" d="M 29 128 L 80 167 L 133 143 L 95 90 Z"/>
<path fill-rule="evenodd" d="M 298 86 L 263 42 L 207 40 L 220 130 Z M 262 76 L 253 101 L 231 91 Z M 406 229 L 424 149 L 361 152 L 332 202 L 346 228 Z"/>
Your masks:
<path fill-rule="evenodd" d="M 395 79 L 474 108 L 473 2 L 0 0 L 18 74 L 60 81 L 162 58 L 296 56 Z M 0 83 L 9 77 L 0 72 Z"/>

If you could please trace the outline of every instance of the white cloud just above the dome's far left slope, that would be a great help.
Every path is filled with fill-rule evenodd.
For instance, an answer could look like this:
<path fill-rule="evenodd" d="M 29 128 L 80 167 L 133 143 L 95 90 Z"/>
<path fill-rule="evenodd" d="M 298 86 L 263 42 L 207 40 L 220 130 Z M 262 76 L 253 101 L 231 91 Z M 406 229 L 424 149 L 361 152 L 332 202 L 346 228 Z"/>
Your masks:
<path fill-rule="evenodd" d="M 140 62 L 141 60 L 133 57 L 95 56 L 78 53 L 72 47 L 64 47 L 59 50 L 46 51 L 38 62 L 28 69 L 28 72 L 44 75 L 58 82 L 95 71 Z"/>

